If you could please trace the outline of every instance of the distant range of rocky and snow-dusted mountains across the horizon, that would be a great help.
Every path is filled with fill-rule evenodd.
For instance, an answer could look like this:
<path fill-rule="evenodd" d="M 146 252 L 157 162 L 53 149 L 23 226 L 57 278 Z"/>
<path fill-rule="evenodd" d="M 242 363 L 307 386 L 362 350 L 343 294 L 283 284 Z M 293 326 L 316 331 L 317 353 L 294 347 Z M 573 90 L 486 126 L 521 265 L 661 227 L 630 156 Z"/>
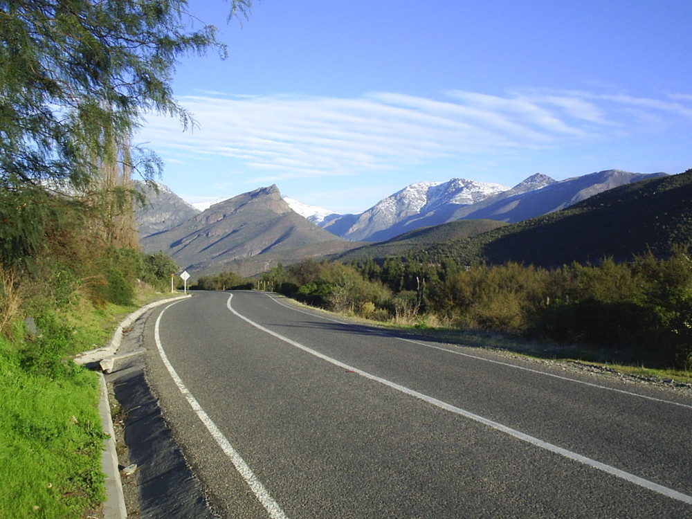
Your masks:
<path fill-rule="evenodd" d="M 466 179 L 419 182 L 360 215 L 334 215 L 284 199 L 275 185 L 213 203 L 203 211 L 163 185 L 158 192 L 142 185 L 149 203 L 136 218 L 146 252 L 163 251 L 193 275 L 233 270 L 248 276 L 279 262 L 291 264 L 365 245 L 354 240 L 388 242 L 408 235 L 420 245 L 421 235 L 410 234 L 419 228 L 459 220 L 480 222 L 444 226 L 445 231 L 436 234 L 437 239 L 466 239 L 502 224 L 559 211 L 619 185 L 661 176 L 666 174 L 606 170 L 558 182 L 535 174 L 513 188 Z M 399 243 L 396 248 L 405 247 Z"/>

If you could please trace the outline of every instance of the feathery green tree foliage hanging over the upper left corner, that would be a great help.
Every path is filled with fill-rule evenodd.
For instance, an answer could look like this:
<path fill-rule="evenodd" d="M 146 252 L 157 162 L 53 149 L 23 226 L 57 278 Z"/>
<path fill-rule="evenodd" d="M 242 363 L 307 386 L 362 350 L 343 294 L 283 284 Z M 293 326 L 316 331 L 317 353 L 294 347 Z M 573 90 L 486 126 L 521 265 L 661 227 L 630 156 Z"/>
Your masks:
<path fill-rule="evenodd" d="M 233 0 L 230 12 L 246 15 L 250 7 L 251 0 Z M 172 95 L 176 59 L 226 48 L 214 27 L 192 30 L 191 21 L 185 0 L 0 2 L 3 265 L 26 264 L 50 243 L 48 229 L 71 198 L 83 197 L 75 203 L 92 212 L 92 233 L 99 219 L 111 239 L 127 230 L 122 208 L 131 206 L 131 190 L 93 187 L 104 167 L 127 170 L 127 178 L 133 169 L 145 179 L 159 171 L 154 154 L 129 149 L 145 112 L 193 123 Z"/>

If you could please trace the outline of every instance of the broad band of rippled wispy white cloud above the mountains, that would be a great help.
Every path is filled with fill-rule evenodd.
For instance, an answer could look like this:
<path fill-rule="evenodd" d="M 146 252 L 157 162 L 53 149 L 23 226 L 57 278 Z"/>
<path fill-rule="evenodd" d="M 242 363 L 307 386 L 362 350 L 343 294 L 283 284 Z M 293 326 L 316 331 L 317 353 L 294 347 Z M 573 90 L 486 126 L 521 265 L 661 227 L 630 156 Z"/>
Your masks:
<path fill-rule="evenodd" d="M 348 176 L 396 170 L 436 158 L 516 154 L 692 122 L 692 95 L 661 99 L 587 91 L 526 90 L 507 95 L 448 91 L 441 100 L 401 93 L 360 98 L 298 95 L 190 95 L 199 122 L 149 118 L 138 138 L 175 160 L 228 158 L 253 181 Z"/>

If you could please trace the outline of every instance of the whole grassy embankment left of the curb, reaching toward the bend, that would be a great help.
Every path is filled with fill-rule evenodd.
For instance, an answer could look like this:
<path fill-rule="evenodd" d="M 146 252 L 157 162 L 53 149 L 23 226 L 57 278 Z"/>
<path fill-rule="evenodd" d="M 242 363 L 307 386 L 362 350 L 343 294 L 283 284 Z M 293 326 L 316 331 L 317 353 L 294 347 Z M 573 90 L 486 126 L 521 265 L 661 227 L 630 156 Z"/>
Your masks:
<path fill-rule="evenodd" d="M 138 295 L 137 305 L 156 298 Z M 105 345 L 135 307 L 44 312 L 0 337 L 0 517 L 82 518 L 104 501 L 98 375 L 70 356 Z"/>

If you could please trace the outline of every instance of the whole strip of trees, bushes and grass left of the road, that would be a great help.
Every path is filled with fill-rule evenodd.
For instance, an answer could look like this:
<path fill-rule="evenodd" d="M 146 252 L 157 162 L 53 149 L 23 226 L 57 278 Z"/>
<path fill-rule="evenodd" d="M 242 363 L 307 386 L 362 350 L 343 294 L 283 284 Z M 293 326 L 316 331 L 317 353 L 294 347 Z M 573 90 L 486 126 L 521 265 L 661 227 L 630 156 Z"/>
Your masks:
<path fill-rule="evenodd" d="M 147 111 L 194 123 L 176 59 L 226 52 L 195 25 L 185 0 L 0 1 L 0 517 L 78 518 L 104 498 L 98 379 L 69 356 L 177 271 L 138 250 L 131 176 L 161 163 L 130 143 Z"/>

